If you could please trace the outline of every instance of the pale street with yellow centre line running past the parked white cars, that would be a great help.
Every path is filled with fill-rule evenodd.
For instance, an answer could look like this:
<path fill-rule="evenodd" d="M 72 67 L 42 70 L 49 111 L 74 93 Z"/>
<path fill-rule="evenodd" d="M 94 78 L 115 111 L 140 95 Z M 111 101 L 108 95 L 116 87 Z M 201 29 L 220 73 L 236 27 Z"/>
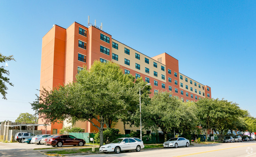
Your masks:
<path fill-rule="evenodd" d="M 86 155 L 88 157 L 256 157 L 256 141 L 197 144 L 190 147 L 141 150 L 128 153 Z M 84 156 L 76 156 L 84 157 Z"/>

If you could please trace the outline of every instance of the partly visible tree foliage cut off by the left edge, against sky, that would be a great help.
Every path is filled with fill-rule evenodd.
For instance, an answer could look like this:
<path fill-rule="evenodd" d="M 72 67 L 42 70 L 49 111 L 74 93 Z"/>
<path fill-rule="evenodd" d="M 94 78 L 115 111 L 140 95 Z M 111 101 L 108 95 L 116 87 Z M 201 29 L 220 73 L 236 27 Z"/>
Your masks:
<path fill-rule="evenodd" d="M 13 58 L 13 55 L 4 56 L 0 53 L 0 63 L 4 63 L 6 61 L 11 61 L 11 60 L 15 61 L 15 59 Z M 9 76 L 9 74 L 10 74 L 9 70 L 6 70 L 4 66 L 0 67 L 0 93 L 3 96 L 3 99 L 6 99 L 6 94 L 7 94 L 6 91 L 8 89 L 6 86 L 6 83 L 13 86 L 13 84 L 10 82 L 10 79 L 4 76 L 4 75 Z"/>

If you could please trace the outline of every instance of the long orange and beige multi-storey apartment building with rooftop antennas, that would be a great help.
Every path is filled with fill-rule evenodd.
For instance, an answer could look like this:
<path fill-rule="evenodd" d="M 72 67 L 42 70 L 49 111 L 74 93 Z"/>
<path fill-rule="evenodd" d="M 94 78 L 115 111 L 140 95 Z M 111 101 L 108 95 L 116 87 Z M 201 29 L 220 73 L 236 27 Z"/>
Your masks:
<path fill-rule="evenodd" d="M 151 83 L 152 95 L 158 91 L 171 91 L 173 96 L 186 102 L 211 98 L 211 88 L 180 73 L 178 60 L 171 55 L 163 53 L 148 57 L 95 26 L 87 28 L 77 22 L 67 29 L 54 25 L 43 37 L 40 90 L 43 87 L 53 89 L 73 81 L 83 65 L 90 68 L 95 60 L 112 61 L 119 64 L 125 74 L 143 77 Z M 43 119 L 39 119 L 39 123 L 42 122 Z M 52 123 L 47 126 L 47 133 L 58 133 L 63 125 L 70 124 Z M 76 126 L 89 133 L 97 131 L 89 122 L 77 122 Z M 122 131 L 124 126 L 118 122 L 115 128 Z M 127 125 L 126 129 L 129 132 L 138 128 Z"/>

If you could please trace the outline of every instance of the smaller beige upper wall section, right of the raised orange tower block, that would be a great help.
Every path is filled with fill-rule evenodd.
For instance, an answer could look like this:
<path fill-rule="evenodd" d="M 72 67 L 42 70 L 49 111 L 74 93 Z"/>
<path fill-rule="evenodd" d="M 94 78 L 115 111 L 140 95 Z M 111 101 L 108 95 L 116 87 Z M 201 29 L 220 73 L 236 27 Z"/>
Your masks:
<path fill-rule="evenodd" d="M 182 79 L 180 79 L 180 76 L 182 76 Z M 187 78 L 187 82 L 186 82 L 186 78 Z M 187 92 L 191 92 L 193 95 L 198 95 L 198 96 L 205 98 L 206 94 L 204 94 L 204 96 L 203 96 L 204 89 L 202 89 L 202 87 L 204 87 L 204 85 L 202 83 L 199 83 L 181 73 L 179 73 L 178 79 L 180 80 L 180 83 L 183 83 L 183 87 L 181 87 L 180 85 L 179 85 L 179 87 L 180 87 L 180 89 L 182 89 L 184 91 L 184 95 L 186 95 L 185 91 L 187 91 Z M 190 84 L 190 80 L 192 81 L 192 84 Z M 195 83 L 197 83 L 197 86 L 195 86 Z M 188 89 L 186 89 L 186 85 L 188 86 Z M 200 85 L 200 88 L 199 88 L 199 85 Z M 190 87 L 193 88 L 193 91 L 190 90 Z M 197 92 L 195 92 L 195 90 L 197 90 Z M 201 94 L 199 94 L 199 91 L 201 92 Z M 189 95 L 189 97 L 190 97 L 190 95 Z"/>

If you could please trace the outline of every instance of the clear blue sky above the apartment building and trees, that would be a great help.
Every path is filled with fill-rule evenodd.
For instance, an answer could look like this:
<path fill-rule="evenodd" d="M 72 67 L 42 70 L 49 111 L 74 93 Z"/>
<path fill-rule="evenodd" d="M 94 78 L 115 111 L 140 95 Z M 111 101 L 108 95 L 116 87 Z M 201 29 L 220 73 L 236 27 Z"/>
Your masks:
<path fill-rule="evenodd" d="M 33 113 L 40 85 L 42 37 L 74 21 L 103 30 L 150 57 L 166 52 L 182 74 L 211 87 L 213 98 L 256 117 L 256 1 L 11 1 L 0 0 L 0 52 L 14 87 L 0 100 L 0 121 Z"/>

